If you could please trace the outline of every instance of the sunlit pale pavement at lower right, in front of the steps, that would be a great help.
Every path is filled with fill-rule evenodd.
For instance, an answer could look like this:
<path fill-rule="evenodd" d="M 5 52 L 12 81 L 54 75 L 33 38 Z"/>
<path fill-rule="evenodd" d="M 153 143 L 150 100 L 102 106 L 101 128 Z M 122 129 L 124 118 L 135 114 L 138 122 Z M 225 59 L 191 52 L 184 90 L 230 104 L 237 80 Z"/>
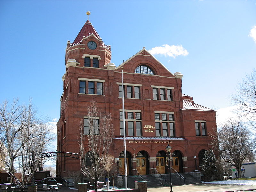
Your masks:
<path fill-rule="evenodd" d="M 198 183 L 172 187 L 173 192 L 230 192 L 238 190 L 256 190 L 256 186 Z M 170 187 L 148 188 L 148 192 L 170 192 Z"/>

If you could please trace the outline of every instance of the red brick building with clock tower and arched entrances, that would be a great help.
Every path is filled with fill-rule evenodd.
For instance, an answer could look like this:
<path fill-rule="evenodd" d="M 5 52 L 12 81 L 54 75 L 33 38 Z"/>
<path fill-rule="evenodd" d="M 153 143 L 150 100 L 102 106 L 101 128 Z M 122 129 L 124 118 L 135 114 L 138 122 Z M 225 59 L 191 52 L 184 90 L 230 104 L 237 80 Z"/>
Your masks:
<path fill-rule="evenodd" d="M 110 152 L 119 157 L 124 174 L 123 115 L 126 125 L 127 172 L 150 174 L 156 168 L 167 173 L 166 146 L 172 147 L 172 166 L 178 172 L 191 172 L 201 164 L 216 131 L 216 112 L 194 103 L 182 94 L 182 74 L 172 74 L 143 47 L 118 67 L 111 60 L 111 47 L 105 45 L 89 20 L 74 42 L 68 41 L 65 58 L 60 119 L 57 124 L 57 151 L 79 153 L 77 131 L 84 118 L 88 133 L 87 106 L 95 98 L 98 108 L 111 113 L 113 142 Z M 122 79 L 124 72 L 124 108 Z M 198 167 L 197 167 L 198 168 Z M 57 175 L 80 169 L 79 160 L 57 158 Z M 199 168 L 200 170 L 200 168 Z"/>

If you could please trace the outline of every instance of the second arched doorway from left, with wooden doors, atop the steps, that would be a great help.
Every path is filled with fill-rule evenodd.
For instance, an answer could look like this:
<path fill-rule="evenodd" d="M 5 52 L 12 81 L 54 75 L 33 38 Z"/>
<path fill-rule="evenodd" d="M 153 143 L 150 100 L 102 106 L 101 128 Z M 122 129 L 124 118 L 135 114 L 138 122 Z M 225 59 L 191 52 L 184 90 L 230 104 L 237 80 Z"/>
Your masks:
<path fill-rule="evenodd" d="M 148 174 L 148 154 L 146 151 L 139 151 L 136 156 L 136 169 L 141 175 Z"/>

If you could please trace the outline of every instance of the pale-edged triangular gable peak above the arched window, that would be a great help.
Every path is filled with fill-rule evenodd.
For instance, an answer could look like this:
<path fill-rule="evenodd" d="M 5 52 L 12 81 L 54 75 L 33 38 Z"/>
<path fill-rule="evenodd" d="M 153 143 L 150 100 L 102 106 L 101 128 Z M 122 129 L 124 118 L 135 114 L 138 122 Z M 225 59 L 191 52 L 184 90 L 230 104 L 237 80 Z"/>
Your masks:
<path fill-rule="evenodd" d="M 146 50 L 145 47 L 143 47 L 143 49 L 141 49 L 139 52 L 137 52 L 136 54 L 134 54 L 132 57 L 130 57 L 128 60 L 124 61 L 121 65 L 119 65 L 118 67 L 116 67 L 116 69 L 122 68 L 126 63 L 128 63 L 130 60 L 132 60 L 133 58 L 135 58 L 136 56 L 146 56 L 146 57 L 151 57 L 154 60 L 157 61 L 157 63 L 159 63 L 164 69 L 166 69 L 166 71 L 168 71 L 172 76 L 175 76 L 176 78 L 182 78 L 182 74 L 180 72 L 176 72 L 174 74 L 172 74 L 172 72 L 170 72 L 159 60 L 157 60 L 153 55 L 151 55 L 148 50 Z M 145 57 L 145 60 L 147 59 Z"/>

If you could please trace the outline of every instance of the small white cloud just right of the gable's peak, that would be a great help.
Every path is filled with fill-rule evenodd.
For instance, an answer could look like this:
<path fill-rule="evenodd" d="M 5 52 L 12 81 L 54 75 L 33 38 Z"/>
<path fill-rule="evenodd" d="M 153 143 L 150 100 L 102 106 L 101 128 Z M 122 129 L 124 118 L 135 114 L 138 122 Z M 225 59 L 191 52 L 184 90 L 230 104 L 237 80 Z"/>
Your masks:
<path fill-rule="evenodd" d="M 188 51 L 182 45 L 168 45 L 164 44 L 162 47 L 153 47 L 149 50 L 152 55 L 164 55 L 169 57 L 177 57 L 179 55 L 188 55 Z"/>

